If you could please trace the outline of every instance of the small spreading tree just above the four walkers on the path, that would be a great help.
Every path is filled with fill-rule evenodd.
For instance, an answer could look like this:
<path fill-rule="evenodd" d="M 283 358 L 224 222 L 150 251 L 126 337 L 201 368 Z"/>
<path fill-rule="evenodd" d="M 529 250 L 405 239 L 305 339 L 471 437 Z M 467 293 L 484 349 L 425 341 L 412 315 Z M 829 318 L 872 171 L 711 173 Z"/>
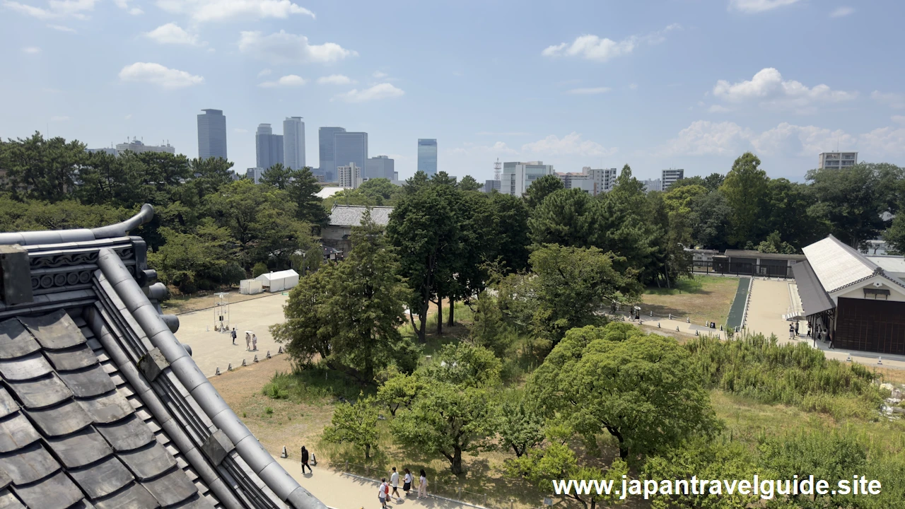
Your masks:
<path fill-rule="evenodd" d="M 427 454 L 443 455 L 452 474 L 462 469 L 462 453 L 493 447 L 496 416 L 487 389 L 428 380 L 410 410 L 390 423 L 396 440 Z"/>

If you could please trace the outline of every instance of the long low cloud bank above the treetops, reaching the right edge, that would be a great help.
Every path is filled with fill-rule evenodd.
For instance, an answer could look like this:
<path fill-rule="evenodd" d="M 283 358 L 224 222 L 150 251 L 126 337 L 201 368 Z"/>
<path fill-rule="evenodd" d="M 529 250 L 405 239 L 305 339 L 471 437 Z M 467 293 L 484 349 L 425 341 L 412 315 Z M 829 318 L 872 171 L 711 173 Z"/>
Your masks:
<path fill-rule="evenodd" d="M 771 156 L 810 157 L 837 146 L 856 149 L 872 158 L 905 155 L 905 128 L 886 127 L 862 134 L 798 126 L 787 122 L 756 132 L 735 122 L 697 120 L 662 149 L 662 156 L 738 155 L 745 150 Z"/>

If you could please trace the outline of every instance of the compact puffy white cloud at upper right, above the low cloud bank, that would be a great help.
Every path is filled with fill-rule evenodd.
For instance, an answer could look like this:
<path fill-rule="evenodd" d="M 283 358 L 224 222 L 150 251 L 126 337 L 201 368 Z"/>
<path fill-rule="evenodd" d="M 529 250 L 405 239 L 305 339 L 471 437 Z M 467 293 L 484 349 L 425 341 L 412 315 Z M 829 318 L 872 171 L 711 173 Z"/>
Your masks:
<path fill-rule="evenodd" d="M 824 84 L 808 88 L 801 82 L 783 80 L 779 71 L 768 67 L 748 81 L 719 80 L 713 87 L 713 96 L 735 104 L 758 101 L 762 106 L 806 112 L 818 103 L 852 101 L 858 97 L 858 92 L 834 91 Z"/>

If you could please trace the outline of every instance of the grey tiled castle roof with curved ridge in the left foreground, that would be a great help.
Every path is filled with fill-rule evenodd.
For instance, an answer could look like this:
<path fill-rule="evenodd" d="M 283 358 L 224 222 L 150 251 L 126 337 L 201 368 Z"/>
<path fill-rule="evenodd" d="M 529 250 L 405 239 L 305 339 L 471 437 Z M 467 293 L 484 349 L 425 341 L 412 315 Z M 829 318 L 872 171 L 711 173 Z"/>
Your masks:
<path fill-rule="evenodd" d="M 134 219 L 0 234 L 0 508 L 325 509 L 176 341 Z"/>

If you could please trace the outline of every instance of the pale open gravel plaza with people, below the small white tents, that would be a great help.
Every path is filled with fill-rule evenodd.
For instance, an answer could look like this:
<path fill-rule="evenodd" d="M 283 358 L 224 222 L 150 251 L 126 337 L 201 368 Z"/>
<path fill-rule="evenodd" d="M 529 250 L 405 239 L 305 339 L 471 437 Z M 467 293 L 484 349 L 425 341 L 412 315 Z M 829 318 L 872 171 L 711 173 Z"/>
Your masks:
<path fill-rule="evenodd" d="M 280 345 L 273 341 L 268 328 L 285 321 L 282 306 L 288 299 L 288 295 L 275 293 L 230 304 L 229 326 L 235 327 L 238 334 L 235 346 L 228 333 L 214 332 L 216 309 L 180 314 L 176 338 L 192 347 L 195 364 L 208 377 L 214 376 L 217 368 L 225 371 L 230 363 L 233 367 L 241 366 L 243 359 L 251 363 L 255 355 L 263 359 L 267 351 L 276 355 Z M 245 331 L 254 331 L 258 336 L 258 351 L 245 350 Z"/>

